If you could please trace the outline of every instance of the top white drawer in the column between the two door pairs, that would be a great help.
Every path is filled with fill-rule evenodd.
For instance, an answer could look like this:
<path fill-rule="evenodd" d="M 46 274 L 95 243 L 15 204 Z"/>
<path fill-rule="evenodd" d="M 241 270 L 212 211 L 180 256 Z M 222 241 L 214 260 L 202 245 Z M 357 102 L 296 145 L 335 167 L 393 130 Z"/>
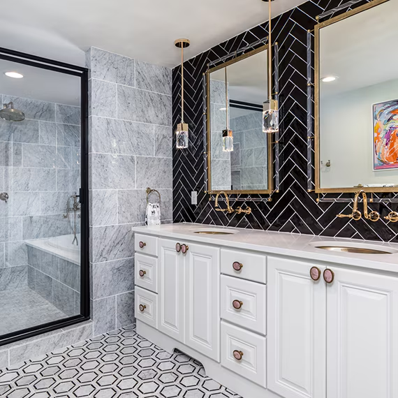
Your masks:
<path fill-rule="evenodd" d="M 247 251 L 221 249 L 221 273 L 267 283 L 267 257 Z"/>

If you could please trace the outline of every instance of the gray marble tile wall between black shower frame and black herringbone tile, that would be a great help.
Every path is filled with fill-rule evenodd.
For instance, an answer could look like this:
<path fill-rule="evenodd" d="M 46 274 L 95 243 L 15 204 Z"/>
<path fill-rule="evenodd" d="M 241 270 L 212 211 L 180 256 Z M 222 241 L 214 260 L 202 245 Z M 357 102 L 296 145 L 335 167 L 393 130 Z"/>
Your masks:
<path fill-rule="evenodd" d="M 134 320 L 131 226 L 145 222 L 145 189 L 172 220 L 171 70 L 91 47 L 89 163 L 94 335 Z"/>

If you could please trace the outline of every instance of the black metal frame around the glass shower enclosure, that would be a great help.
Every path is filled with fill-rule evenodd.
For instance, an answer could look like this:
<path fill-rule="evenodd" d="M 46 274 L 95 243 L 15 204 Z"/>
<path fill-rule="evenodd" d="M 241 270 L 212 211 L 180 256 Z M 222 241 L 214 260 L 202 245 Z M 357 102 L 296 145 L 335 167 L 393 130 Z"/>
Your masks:
<path fill-rule="evenodd" d="M 20 341 L 29 337 L 34 337 L 45 332 L 61 329 L 81 323 L 90 318 L 90 292 L 89 292 L 89 80 L 87 68 L 66 64 L 61 61 L 54 61 L 36 55 L 25 54 L 14 50 L 0 47 L 0 59 L 13 61 L 36 68 L 47 69 L 49 71 L 66 73 L 80 77 L 80 102 L 81 102 L 81 131 L 80 131 L 80 226 L 81 226 L 81 251 L 80 251 L 80 315 L 71 316 L 49 323 L 43 323 L 27 329 L 18 330 L 8 334 L 0 335 L 0 347 Z M 1 317 L 1 314 L 0 314 Z"/>

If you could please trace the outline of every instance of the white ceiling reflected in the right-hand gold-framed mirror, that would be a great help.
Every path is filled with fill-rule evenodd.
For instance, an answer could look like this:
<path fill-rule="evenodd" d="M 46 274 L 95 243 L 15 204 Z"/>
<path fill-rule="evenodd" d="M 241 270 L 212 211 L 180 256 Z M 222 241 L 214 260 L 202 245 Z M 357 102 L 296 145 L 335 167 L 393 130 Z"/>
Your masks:
<path fill-rule="evenodd" d="M 398 1 L 390 0 L 320 29 L 320 95 L 398 78 Z"/>

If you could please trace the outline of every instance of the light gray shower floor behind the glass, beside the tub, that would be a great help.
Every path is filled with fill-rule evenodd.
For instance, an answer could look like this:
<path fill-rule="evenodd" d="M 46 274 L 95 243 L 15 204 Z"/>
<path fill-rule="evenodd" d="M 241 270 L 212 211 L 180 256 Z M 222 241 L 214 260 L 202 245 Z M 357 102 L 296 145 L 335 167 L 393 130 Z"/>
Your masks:
<path fill-rule="evenodd" d="M 0 291 L 0 334 L 67 317 L 64 312 L 28 287 Z"/>

